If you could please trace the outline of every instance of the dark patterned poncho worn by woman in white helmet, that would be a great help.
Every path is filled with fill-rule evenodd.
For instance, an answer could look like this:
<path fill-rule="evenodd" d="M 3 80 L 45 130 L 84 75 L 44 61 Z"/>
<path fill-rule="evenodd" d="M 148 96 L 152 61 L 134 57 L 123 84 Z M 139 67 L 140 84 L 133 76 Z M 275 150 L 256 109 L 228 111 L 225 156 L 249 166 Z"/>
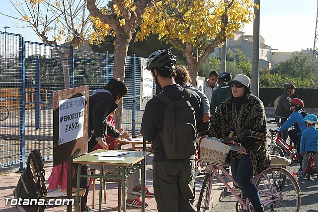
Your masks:
<path fill-rule="evenodd" d="M 239 111 L 237 111 L 239 108 Z M 222 103 L 211 117 L 209 136 L 227 139 L 230 131 L 239 136 L 243 129 L 250 129 L 250 136 L 240 136 L 236 142 L 241 143 L 248 151 L 252 161 L 253 175 L 257 176 L 270 164 L 266 143 L 266 116 L 263 103 L 255 96 L 250 96 L 240 106 L 235 101 Z M 231 151 L 232 158 L 241 155 Z"/>

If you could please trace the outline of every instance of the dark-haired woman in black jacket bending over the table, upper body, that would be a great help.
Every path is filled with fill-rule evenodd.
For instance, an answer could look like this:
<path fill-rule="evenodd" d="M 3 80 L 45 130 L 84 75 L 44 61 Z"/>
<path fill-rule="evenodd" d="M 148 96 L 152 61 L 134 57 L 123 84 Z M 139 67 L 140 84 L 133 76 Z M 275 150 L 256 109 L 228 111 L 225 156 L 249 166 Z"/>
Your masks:
<path fill-rule="evenodd" d="M 104 140 L 106 134 L 114 138 L 128 138 L 128 133 L 120 133 L 108 124 L 108 115 L 117 108 L 118 103 L 128 94 L 128 88 L 119 78 L 114 78 L 102 89 L 93 92 L 89 97 L 88 115 L 88 152 L 98 143 L 109 149 Z"/>

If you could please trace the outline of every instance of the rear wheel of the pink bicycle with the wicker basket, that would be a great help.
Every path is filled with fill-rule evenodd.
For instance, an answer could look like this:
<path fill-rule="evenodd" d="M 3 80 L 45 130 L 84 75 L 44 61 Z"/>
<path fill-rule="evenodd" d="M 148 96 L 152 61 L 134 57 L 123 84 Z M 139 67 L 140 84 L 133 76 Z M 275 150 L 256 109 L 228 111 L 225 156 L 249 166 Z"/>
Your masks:
<path fill-rule="evenodd" d="M 300 189 L 287 170 L 273 167 L 261 175 L 256 188 L 265 211 L 299 212 Z"/>

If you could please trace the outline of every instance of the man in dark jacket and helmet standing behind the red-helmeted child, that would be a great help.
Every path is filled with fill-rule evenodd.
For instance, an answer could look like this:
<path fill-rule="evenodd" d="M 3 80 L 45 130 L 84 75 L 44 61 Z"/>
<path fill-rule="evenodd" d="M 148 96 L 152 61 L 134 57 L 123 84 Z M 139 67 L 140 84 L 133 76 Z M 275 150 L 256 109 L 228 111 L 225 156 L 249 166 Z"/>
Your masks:
<path fill-rule="evenodd" d="M 283 85 L 285 92 L 280 96 L 277 104 L 277 108 L 275 110 L 275 120 L 278 121 L 276 124 L 278 127 L 282 126 L 287 118 L 290 116 L 291 111 L 289 108 L 289 101 L 292 99 L 294 95 L 296 86 L 293 83 L 285 83 Z M 282 139 L 286 141 L 288 138 L 288 130 L 282 131 Z"/>

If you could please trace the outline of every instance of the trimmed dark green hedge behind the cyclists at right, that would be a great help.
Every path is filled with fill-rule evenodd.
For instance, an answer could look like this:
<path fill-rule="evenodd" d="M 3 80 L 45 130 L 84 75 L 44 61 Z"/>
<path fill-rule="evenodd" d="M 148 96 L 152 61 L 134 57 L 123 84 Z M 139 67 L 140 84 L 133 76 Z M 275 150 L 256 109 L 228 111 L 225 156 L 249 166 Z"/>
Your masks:
<path fill-rule="evenodd" d="M 259 88 L 259 99 L 263 102 L 264 106 L 273 107 L 275 99 L 283 93 L 283 88 Z M 318 89 L 296 89 L 293 97 L 302 99 L 306 108 L 318 107 Z"/>

